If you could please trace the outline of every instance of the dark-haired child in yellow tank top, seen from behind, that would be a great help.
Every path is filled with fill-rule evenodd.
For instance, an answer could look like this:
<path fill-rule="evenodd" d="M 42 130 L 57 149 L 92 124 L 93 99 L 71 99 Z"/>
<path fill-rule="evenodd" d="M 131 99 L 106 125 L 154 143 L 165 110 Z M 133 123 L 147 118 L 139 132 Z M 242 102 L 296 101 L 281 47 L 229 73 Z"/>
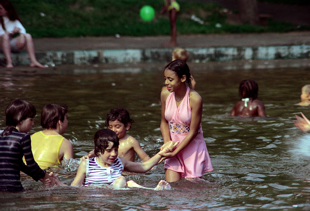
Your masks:
<path fill-rule="evenodd" d="M 58 166 L 63 158 L 73 158 L 73 146 L 63 134 L 68 126 L 66 105 L 47 104 L 41 113 L 43 131 L 31 136 L 31 149 L 34 160 L 45 169 Z"/>

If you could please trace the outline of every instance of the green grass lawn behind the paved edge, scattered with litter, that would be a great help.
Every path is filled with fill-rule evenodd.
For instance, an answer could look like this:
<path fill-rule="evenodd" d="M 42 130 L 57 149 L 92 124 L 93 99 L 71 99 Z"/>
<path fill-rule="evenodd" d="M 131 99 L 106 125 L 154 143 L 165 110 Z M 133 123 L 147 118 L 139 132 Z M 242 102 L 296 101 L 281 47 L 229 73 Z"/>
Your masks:
<path fill-rule="evenodd" d="M 276 0 L 270 0 L 275 2 Z M 287 0 L 290 1 L 290 0 Z M 169 35 L 168 14 L 160 15 L 163 0 L 11 0 L 22 24 L 33 37 L 156 36 Z M 309 30 L 309 26 L 280 23 L 272 19 L 266 26 L 229 24 L 227 13 L 215 3 L 178 0 L 178 34 L 286 32 Z M 155 17 L 144 22 L 139 10 L 155 9 Z M 198 17 L 204 24 L 191 19 Z"/>

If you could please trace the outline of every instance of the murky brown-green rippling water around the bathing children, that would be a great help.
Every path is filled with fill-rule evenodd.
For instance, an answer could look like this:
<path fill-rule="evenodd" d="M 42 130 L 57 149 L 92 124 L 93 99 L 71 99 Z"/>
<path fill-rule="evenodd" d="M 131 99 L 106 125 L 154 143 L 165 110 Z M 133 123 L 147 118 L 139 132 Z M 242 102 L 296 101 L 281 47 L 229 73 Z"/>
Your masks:
<path fill-rule="evenodd" d="M 148 155 L 161 146 L 160 89 L 165 64 L 123 67 L 56 67 L 46 74 L 0 71 L 0 127 L 4 110 L 14 98 L 35 105 L 35 126 L 47 103 L 69 108 L 64 136 L 73 143 L 76 160 L 52 170 L 70 184 L 78 158 L 93 149 L 95 132 L 104 127 L 111 108 L 122 106 L 135 122 L 129 130 Z M 203 98 L 202 128 L 214 170 L 202 179 L 171 183 L 172 190 L 115 190 L 102 187 L 52 187 L 22 177 L 26 192 L 0 193 L 1 210 L 309 210 L 310 134 L 297 130 L 292 120 L 309 108 L 296 106 L 300 89 L 309 83 L 309 69 L 208 71 L 189 64 Z M 259 84 L 259 97 L 267 118 L 229 116 L 238 100 L 238 85 L 251 78 Z M 126 176 L 156 187 L 164 179 L 163 163 L 146 174 Z"/>

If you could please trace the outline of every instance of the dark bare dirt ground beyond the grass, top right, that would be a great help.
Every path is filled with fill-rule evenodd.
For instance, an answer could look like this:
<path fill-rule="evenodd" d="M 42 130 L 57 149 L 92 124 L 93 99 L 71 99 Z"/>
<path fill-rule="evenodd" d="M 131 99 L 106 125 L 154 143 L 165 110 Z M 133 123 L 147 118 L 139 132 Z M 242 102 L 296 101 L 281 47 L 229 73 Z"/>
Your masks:
<path fill-rule="evenodd" d="M 231 11 L 238 11 L 237 0 L 191 0 L 196 2 L 216 2 Z M 310 25 L 310 5 L 287 5 L 257 1 L 258 13 L 277 21 L 295 25 Z M 230 14 L 227 17 L 230 23 L 240 23 L 238 15 Z"/>

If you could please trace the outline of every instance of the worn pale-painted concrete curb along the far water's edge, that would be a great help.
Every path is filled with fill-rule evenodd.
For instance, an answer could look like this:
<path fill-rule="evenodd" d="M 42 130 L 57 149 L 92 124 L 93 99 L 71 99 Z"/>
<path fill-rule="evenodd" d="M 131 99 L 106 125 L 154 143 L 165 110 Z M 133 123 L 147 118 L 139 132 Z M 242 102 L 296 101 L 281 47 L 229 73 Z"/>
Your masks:
<path fill-rule="evenodd" d="M 310 58 L 310 45 L 276 45 L 243 47 L 186 48 L 190 53 L 188 62 L 205 63 L 210 61 L 234 60 L 273 60 Z M 48 66 L 61 64 L 107 64 L 169 62 L 172 49 L 112 49 L 112 50 L 70 50 L 36 52 L 38 61 Z M 13 65 L 28 65 L 28 54 L 12 54 Z M 0 54 L 0 62 L 6 59 Z"/>

